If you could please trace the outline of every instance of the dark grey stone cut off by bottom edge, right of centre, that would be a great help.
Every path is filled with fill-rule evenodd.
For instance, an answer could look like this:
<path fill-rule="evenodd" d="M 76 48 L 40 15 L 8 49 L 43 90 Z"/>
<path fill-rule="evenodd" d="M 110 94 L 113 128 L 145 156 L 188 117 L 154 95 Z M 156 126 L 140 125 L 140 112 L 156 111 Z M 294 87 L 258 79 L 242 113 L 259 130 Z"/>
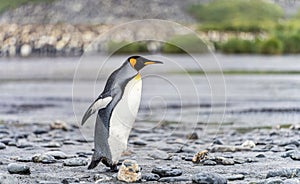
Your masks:
<path fill-rule="evenodd" d="M 201 184 L 227 184 L 227 179 L 219 174 L 201 172 L 192 177 L 194 183 Z"/>

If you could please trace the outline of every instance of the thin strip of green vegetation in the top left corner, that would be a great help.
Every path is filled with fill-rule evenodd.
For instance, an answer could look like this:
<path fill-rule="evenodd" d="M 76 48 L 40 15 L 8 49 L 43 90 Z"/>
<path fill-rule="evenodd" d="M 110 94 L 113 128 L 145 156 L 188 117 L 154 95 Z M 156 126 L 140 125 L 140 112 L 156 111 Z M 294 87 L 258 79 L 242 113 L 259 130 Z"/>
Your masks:
<path fill-rule="evenodd" d="M 55 0 L 0 0 L 0 13 L 8 9 L 14 9 L 27 3 L 51 3 Z"/>

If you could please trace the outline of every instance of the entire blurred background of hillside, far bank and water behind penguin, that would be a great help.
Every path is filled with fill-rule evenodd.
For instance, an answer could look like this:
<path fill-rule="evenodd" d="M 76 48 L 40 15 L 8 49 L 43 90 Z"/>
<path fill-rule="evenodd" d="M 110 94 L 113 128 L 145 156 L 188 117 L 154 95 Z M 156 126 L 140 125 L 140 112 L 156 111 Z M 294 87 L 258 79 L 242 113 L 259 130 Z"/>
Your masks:
<path fill-rule="evenodd" d="M 0 0 L 0 121 L 76 123 L 110 72 L 142 54 L 167 62 L 145 71 L 163 77 L 145 78 L 139 121 L 299 123 L 299 8 L 298 0 Z M 185 29 L 108 34 L 143 19 Z"/>

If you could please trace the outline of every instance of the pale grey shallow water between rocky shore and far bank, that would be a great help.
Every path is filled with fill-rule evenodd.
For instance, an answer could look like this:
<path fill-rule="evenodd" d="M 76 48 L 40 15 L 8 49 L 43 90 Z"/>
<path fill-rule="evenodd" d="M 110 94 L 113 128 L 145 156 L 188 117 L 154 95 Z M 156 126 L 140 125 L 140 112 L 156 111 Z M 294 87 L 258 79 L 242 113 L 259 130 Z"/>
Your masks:
<path fill-rule="evenodd" d="M 127 56 L 1 58 L 0 117 L 5 121 L 70 123 L 80 119 Z M 152 56 L 149 56 L 152 58 Z M 199 62 L 182 55 L 142 71 L 138 121 L 220 123 L 257 127 L 300 121 L 300 56 L 216 55 L 223 71 L 285 71 L 282 74 L 216 74 L 211 55 Z M 190 75 L 188 71 L 212 72 Z M 294 73 L 289 74 L 289 71 Z M 297 73 L 296 72 L 296 73 Z M 77 117 L 77 118 L 76 118 Z"/>

